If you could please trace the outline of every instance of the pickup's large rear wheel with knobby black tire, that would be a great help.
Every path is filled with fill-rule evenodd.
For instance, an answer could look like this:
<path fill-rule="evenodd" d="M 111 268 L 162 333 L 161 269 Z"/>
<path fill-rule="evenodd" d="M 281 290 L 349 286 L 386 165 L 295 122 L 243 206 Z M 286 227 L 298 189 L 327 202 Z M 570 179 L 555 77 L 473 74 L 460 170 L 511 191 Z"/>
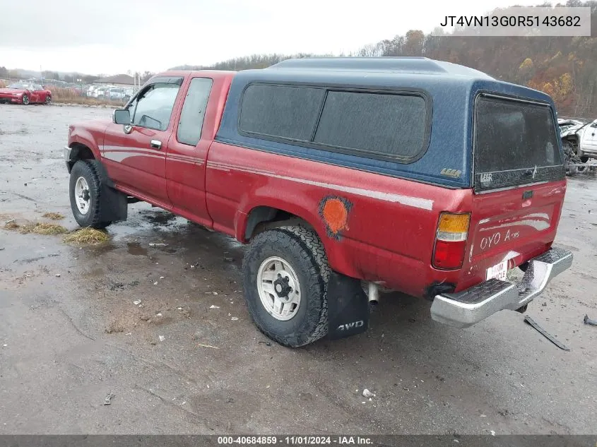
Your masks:
<path fill-rule="evenodd" d="M 258 234 L 243 259 L 244 297 L 257 328 L 288 347 L 324 337 L 329 273 L 324 247 L 311 230 Z"/>

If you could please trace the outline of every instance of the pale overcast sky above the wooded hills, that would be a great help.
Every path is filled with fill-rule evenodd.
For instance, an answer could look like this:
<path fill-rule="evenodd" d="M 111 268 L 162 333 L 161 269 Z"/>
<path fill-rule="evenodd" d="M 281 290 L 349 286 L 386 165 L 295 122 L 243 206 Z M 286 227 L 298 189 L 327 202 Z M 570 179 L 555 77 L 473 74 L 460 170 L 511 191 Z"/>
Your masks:
<path fill-rule="evenodd" d="M 0 66 L 116 74 L 254 53 L 357 51 L 529 0 L 0 1 Z"/>

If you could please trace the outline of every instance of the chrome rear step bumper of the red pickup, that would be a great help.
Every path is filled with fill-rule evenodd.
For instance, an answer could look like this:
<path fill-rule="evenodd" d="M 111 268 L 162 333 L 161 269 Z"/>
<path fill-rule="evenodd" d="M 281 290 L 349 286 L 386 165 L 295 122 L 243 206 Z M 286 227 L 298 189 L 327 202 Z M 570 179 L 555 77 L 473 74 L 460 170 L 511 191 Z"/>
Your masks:
<path fill-rule="evenodd" d="M 516 310 L 537 297 L 550 280 L 572 266 L 572 253 L 553 247 L 528 261 L 520 282 L 487 280 L 457 293 L 435 296 L 431 317 L 435 321 L 468 328 L 497 311 Z"/>

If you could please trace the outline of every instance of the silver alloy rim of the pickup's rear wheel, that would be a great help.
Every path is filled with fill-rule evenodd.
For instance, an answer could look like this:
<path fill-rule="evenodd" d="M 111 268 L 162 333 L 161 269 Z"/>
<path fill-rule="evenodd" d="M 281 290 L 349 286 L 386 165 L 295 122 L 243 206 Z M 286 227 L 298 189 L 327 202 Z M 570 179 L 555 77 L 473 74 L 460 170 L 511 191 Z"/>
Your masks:
<path fill-rule="evenodd" d="M 278 256 L 261 263 L 257 272 L 257 290 L 267 313 L 280 321 L 288 321 L 300 306 L 300 283 L 295 270 Z"/>

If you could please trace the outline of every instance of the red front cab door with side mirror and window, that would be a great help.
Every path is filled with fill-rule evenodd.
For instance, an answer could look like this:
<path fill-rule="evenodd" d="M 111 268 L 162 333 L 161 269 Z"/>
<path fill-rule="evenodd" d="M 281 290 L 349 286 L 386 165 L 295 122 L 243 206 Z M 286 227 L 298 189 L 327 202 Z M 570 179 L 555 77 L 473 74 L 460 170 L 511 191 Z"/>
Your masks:
<path fill-rule="evenodd" d="M 181 78 L 166 78 L 146 85 L 127 106 L 131 125 L 107 126 L 102 157 L 110 178 L 164 208 L 171 208 L 166 191 L 166 147 Z"/>

